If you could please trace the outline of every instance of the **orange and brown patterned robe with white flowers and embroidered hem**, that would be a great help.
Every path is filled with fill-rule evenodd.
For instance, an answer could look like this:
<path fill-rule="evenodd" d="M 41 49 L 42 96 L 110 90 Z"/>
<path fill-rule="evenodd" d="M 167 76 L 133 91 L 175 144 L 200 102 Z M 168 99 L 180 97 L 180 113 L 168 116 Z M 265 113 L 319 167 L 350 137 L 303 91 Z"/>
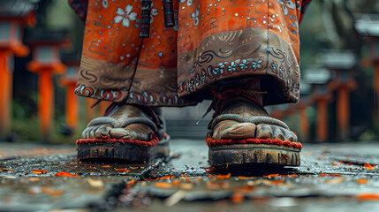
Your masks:
<path fill-rule="evenodd" d="M 174 0 L 177 26 L 168 28 L 163 1 L 153 0 L 142 39 L 140 0 L 89 0 L 87 9 L 76 7 L 87 17 L 75 93 L 185 106 L 211 98 L 220 80 L 262 76 L 262 90 L 271 87 L 263 102 L 297 102 L 299 22 L 309 2 Z"/>

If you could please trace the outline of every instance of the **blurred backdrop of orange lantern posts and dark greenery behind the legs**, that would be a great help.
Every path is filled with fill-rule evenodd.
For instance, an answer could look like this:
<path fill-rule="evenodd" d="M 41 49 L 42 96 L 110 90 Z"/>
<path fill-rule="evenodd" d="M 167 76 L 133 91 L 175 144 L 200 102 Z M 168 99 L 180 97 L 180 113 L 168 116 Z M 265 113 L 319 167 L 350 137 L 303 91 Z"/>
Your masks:
<path fill-rule="evenodd" d="M 73 95 L 84 25 L 66 0 L 0 0 L 0 140 L 74 143 L 109 102 Z M 300 26 L 300 102 L 268 107 L 301 142 L 379 140 L 379 1 L 314 0 Z M 204 139 L 210 102 L 164 108 Z"/>

